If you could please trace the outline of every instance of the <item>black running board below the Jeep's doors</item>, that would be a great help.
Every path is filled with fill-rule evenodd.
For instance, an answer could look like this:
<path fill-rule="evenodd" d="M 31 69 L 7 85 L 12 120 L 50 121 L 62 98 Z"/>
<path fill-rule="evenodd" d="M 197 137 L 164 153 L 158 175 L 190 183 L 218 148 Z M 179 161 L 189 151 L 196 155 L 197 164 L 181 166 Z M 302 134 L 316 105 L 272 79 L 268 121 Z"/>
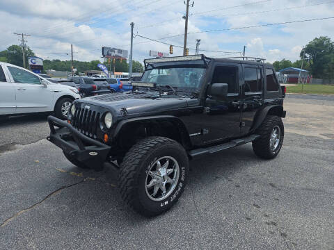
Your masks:
<path fill-rule="evenodd" d="M 259 137 L 260 135 L 250 135 L 246 138 L 231 140 L 230 142 L 225 142 L 223 144 L 212 146 L 212 147 L 193 149 L 189 151 L 188 153 L 191 156 L 191 158 L 197 158 L 198 156 L 206 155 L 209 153 L 216 153 L 219 151 L 223 151 L 225 149 L 231 149 L 233 147 L 237 147 L 239 145 L 246 144 L 248 142 L 253 142 L 253 140 Z"/>

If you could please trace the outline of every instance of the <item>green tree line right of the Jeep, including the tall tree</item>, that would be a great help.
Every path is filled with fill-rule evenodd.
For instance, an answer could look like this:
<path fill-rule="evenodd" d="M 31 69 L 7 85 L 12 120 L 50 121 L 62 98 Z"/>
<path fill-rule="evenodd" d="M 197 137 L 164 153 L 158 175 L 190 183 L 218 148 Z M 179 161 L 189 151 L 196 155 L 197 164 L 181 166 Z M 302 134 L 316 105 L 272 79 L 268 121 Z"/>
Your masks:
<path fill-rule="evenodd" d="M 304 55 L 305 54 L 305 55 Z M 273 63 L 276 71 L 287 67 L 301 68 L 304 57 L 303 69 L 309 70 L 315 78 L 334 78 L 334 42 L 331 38 L 321 36 L 309 42 L 300 53 L 301 60 L 292 63 L 290 60 L 280 60 Z"/>

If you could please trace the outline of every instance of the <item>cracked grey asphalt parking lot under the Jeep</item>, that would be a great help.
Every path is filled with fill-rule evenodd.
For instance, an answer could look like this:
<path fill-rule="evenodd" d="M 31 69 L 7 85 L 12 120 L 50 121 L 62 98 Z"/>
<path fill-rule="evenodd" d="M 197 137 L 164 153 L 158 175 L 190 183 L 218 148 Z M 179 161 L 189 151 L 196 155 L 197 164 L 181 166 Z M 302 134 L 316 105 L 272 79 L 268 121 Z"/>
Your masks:
<path fill-rule="evenodd" d="M 168 213 L 120 198 L 117 172 L 82 171 L 45 115 L 0 121 L 0 249 L 334 249 L 334 97 L 288 95 L 274 160 L 250 144 L 191 162 Z"/>

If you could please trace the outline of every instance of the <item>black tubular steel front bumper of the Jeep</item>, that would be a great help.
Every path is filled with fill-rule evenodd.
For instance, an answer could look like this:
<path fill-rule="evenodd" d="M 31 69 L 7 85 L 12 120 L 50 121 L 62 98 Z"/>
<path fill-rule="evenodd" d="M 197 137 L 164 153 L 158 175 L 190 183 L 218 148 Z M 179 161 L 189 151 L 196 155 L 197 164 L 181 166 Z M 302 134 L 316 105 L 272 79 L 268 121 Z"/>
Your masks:
<path fill-rule="evenodd" d="M 50 127 L 50 136 L 47 137 L 47 140 L 63 149 L 63 152 L 70 155 L 71 158 L 92 169 L 102 167 L 111 147 L 88 138 L 71 124 L 51 115 L 47 117 L 47 122 L 49 122 Z"/>

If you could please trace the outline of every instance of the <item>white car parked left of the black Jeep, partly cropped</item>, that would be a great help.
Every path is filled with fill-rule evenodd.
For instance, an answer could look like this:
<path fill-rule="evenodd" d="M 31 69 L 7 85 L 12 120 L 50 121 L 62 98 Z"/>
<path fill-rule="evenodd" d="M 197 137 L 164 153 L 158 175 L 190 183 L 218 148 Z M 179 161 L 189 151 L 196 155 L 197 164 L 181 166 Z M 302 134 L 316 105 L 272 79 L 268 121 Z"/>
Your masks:
<path fill-rule="evenodd" d="M 0 62 L 0 115 L 54 112 L 60 119 L 74 99 L 79 99 L 76 88 L 51 83 L 22 67 Z"/>

